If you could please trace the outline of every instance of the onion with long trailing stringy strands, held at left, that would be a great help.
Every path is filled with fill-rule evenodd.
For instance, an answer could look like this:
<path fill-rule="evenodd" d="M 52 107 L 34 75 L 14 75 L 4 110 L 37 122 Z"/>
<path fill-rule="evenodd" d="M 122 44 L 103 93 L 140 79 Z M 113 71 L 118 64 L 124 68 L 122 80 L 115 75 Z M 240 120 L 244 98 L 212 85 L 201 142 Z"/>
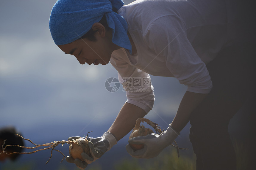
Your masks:
<path fill-rule="evenodd" d="M 20 136 L 18 134 L 15 134 L 17 136 Z M 88 136 L 88 134 L 87 134 Z M 62 140 L 62 141 L 54 141 L 54 142 L 51 142 L 51 143 L 46 143 L 46 144 L 35 144 L 34 142 L 32 142 L 30 139 L 25 139 L 24 137 L 20 136 L 21 138 L 23 138 L 24 140 L 27 140 L 29 141 L 30 143 L 34 144 L 35 147 L 25 147 L 25 146 L 19 146 L 19 145 L 7 145 L 5 147 L 4 146 L 4 143 L 2 145 L 2 151 L 1 153 L 6 153 L 7 155 L 10 155 L 10 154 L 32 154 L 32 153 L 35 153 L 35 152 L 38 152 L 38 151 L 41 151 L 41 150 L 47 150 L 47 149 L 51 149 L 51 156 L 49 158 L 49 160 L 46 162 L 48 163 L 52 157 L 52 151 L 55 150 L 57 152 L 60 152 L 62 155 L 63 155 L 63 158 L 60 162 L 62 162 L 65 158 L 65 155 L 59 151 L 59 150 L 56 150 L 54 149 L 58 144 L 69 144 L 69 154 L 72 158 L 76 159 L 80 159 L 82 160 L 82 156 L 81 156 L 81 153 L 82 152 L 85 152 L 86 154 L 90 155 L 90 149 L 88 147 L 88 140 L 87 140 L 87 136 L 85 138 L 78 138 L 78 139 L 72 139 L 72 140 L 68 140 L 68 141 L 65 141 L 65 140 Z M 6 141 L 6 139 L 4 140 L 4 142 Z M 32 152 L 13 152 L 13 153 L 7 153 L 5 152 L 4 150 L 8 147 L 8 146 L 17 146 L 17 147 L 22 147 L 22 148 L 25 148 L 25 149 L 36 149 L 36 148 L 39 148 L 39 147 L 45 147 L 43 149 L 39 149 L 39 150 L 35 150 L 35 151 L 32 151 Z M 0 154 L 1 154 L 0 153 Z M 83 160 L 82 160 L 83 161 Z M 46 164 L 45 163 L 45 164 Z"/>

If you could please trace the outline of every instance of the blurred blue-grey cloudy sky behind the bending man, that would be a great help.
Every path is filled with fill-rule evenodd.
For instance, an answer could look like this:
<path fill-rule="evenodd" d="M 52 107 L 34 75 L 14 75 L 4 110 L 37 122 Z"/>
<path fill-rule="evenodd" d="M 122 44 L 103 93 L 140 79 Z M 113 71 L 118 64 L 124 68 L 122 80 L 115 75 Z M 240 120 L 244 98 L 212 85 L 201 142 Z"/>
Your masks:
<path fill-rule="evenodd" d="M 0 127 L 14 125 L 39 142 L 103 134 L 126 101 L 122 87 L 105 89 L 117 77 L 110 63 L 81 65 L 54 45 L 48 23 L 55 2 L 0 1 Z M 186 87 L 168 77 L 152 76 L 152 84 L 156 101 L 146 117 L 162 118 L 167 128 Z"/>

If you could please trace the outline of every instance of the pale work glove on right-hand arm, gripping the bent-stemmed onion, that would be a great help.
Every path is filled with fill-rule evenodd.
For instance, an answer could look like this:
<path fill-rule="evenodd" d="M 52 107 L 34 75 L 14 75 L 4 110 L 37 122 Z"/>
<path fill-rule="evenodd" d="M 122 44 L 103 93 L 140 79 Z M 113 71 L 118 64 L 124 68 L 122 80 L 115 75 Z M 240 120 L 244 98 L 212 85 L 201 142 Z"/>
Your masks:
<path fill-rule="evenodd" d="M 172 144 L 179 135 L 172 127 L 171 124 L 166 131 L 158 134 L 149 134 L 147 136 L 137 136 L 128 140 L 129 144 L 143 144 L 144 147 L 141 150 L 133 150 L 132 147 L 127 144 L 127 152 L 134 158 L 154 158 L 159 153 Z"/>

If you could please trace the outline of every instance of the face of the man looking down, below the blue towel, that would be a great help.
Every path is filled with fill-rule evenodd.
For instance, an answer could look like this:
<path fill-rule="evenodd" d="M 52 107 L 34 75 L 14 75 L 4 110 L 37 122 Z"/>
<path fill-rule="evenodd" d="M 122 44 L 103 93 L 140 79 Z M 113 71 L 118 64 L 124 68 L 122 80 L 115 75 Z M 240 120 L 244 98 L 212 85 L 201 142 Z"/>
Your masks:
<path fill-rule="evenodd" d="M 96 42 L 78 39 L 69 44 L 58 45 L 58 47 L 66 54 L 74 55 L 80 64 L 105 65 L 110 61 L 113 50 L 105 39 L 97 35 L 96 39 Z"/>

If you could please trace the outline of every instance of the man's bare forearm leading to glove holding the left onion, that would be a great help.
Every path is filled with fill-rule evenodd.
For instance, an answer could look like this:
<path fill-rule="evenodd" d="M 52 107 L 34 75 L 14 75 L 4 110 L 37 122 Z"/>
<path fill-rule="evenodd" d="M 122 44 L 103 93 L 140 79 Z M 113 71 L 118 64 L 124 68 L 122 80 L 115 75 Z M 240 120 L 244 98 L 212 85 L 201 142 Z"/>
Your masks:
<path fill-rule="evenodd" d="M 108 132 L 112 133 L 118 141 L 134 128 L 138 118 L 145 115 L 146 112 L 140 107 L 125 103 Z"/>

